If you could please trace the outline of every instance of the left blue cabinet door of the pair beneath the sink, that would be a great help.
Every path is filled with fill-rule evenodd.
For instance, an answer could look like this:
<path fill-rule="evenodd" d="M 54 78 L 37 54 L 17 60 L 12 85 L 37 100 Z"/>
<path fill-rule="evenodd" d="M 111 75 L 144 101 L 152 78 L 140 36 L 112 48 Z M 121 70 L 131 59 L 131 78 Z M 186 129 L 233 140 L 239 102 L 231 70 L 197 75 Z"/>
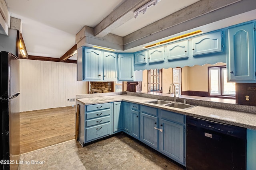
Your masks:
<path fill-rule="evenodd" d="M 140 140 L 154 149 L 158 149 L 158 117 L 140 114 Z"/>

